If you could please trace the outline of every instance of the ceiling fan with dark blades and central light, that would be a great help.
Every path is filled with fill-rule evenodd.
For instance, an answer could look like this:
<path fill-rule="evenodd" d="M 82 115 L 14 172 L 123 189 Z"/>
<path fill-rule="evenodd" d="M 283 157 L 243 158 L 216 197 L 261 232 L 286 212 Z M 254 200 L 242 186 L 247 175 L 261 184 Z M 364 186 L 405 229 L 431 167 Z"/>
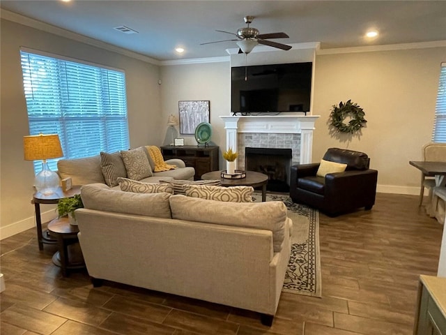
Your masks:
<path fill-rule="evenodd" d="M 220 33 L 231 34 L 231 35 L 235 35 L 237 37 L 237 38 L 234 38 L 231 40 L 237 41 L 237 45 L 238 45 L 238 47 L 240 47 L 240 49 L 238 50 L 239 54 L 242 54 L 242 53 L 249 54 L 249 52 L 251 52 L 252 49 L 254 49 L 254 47 L 258 44 L 269 45 L 270 47 L 277 47 L 278 49 L 282 49 L 282 50 L 290 50 L 291 49 L 290 45 L 277 43 L 277 42 L 273 42 L 272 40 L 269 40 L 270 38 L 289 38 L 289 36 L 286 35 L 285 33 L 260 34 L 259 29 L 249 27 L 249 24 L 251 24 L 252 21 L 254 20 L 254 16 L 247 15 L 247 16 L 243 17 L 243 19 L 245 20 L 245 23 L 247 24 L 248 27 L 243 27 L 243 28 L 237 29 L 236 34 L 230 33 L 229 31 L 216 30 L 216 31 L 220 31 Z M 229 40 L 216 40 L 215 42 L 201 43 L 201 45 L 210 44 L 210 43 L 220 43 L 220 42 L 226 42 L 226 41 L 229 41 Z"/>

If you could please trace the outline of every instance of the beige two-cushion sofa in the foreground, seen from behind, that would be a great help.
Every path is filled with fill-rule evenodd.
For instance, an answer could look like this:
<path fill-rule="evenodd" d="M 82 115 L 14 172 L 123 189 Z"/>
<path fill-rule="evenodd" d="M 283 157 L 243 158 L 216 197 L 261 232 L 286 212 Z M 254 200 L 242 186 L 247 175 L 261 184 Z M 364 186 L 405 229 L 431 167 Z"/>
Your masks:
<path fill-rule="evenodd" d="M 125 283 L 261 313 L 270 325 L 291 253 L 283 202 L 222 202 L 82 186 L 79 242 L 93 284 Z"/>

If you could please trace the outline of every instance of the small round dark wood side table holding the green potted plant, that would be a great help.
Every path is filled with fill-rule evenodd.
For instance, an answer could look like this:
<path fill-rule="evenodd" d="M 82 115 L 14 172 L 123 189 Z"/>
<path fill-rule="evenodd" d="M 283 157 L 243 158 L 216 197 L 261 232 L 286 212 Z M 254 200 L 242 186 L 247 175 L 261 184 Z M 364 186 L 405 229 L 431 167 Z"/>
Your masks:
<path fill-rule="evenodd" d="M 77 239 L 77 225 L 70 225 L 68 217 L 55 218 L 48 223 L 48 232 L 57 239 L 59 251 L 54 254 L 53 263 L 61 267 L 62 276 L 68 276 L 70 269 L 84 269 L 84 256 Z"/>

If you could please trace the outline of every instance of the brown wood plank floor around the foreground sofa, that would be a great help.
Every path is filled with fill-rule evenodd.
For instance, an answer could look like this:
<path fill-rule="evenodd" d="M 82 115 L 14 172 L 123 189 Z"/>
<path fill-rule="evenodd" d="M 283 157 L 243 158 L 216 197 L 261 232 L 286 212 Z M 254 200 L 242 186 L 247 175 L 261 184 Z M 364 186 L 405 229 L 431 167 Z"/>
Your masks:
<path fill-rule="evenodd" d="M 1 334 L 412 334 L 417 280 L 436 275 L 443 226 L 417 197 L 378 193 L 371 211 L 321 214 L 323 297 L 282 293 L 272 327 L 229 306 L 106 282 L 63 278 L 36 232 L 1 241 Z M 255 285 L 255 278 L 253 278 Z"/>

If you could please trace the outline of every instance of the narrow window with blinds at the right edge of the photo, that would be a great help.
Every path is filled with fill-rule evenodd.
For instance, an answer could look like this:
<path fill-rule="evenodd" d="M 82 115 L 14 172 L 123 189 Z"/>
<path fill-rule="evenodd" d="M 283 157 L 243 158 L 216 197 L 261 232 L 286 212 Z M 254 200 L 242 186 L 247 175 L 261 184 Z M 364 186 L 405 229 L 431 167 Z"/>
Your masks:
<path fill-rule="evenodd" d="M 446 63 L 441 64 L 432 142 L 446 142 Z"/>

